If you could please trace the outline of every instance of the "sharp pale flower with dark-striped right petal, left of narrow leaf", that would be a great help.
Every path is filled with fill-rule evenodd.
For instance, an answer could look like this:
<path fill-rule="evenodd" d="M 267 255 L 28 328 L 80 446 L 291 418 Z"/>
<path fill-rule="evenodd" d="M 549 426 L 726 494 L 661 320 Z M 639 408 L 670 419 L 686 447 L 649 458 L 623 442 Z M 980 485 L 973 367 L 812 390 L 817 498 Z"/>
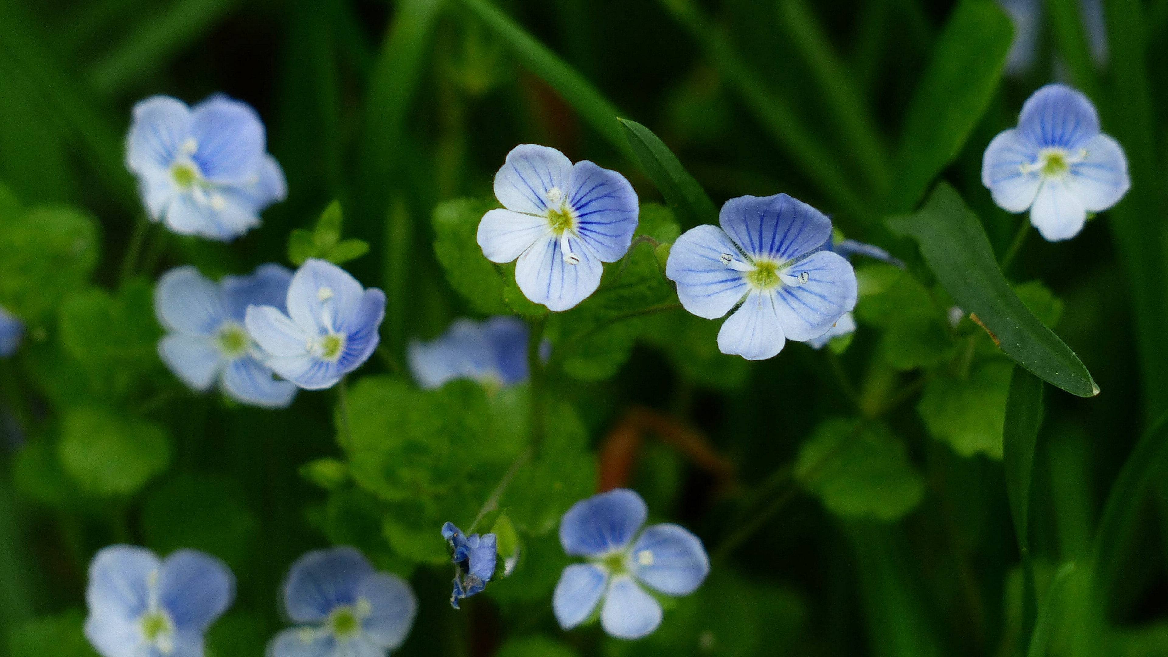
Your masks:
<path fill-rule="evenodd" d="M 624 257 L 637 230 L 637 192 L 619 173 L 575 165 L 548 146 L 523 144 L 495 174 L 506 209 L 479 223 L 479 245 L 498 263 L 519 258 L 515 282 L 549 310 L 568 310 L 596 291 L 602 263 Z"/>

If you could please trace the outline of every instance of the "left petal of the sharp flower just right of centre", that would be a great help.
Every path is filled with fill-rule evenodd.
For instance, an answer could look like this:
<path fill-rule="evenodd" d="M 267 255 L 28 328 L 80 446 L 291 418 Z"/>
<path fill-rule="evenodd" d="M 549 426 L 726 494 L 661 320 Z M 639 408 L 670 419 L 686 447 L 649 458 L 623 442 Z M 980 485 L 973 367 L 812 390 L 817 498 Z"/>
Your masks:
<path fill-rule="evenodd" d="M 681 305 L 697 317 L 723 317 L 749 290 L 743 274 L 726 267 L 723 255 L 739 257 L 738 247 L 717 226 L 691 228 L 669 248 L 665 275 L 677 284 Z"/>

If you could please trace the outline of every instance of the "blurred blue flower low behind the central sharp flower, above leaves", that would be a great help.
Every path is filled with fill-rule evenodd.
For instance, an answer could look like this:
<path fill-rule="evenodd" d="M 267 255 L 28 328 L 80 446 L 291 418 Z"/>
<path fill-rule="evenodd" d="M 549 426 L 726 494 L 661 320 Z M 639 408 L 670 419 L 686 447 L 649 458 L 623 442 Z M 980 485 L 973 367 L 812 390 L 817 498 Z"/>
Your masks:
<path fill-rule="evenodd" d="M 458 319 L 434 340 L 410 343 L 410 372 L 427 389 L 453 379 L 487 386 L 517 383 L 528 376 L 527 336 L 527 324 L 514 317 Z"/>

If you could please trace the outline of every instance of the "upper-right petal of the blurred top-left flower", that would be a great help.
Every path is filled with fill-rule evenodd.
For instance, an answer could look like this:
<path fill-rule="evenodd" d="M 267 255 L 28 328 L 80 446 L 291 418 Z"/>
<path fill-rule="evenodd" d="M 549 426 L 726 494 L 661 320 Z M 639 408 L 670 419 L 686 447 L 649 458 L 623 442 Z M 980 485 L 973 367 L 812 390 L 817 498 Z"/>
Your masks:
<path fill-rule="evenodd" d="M 216 94 L 190 109 L 190 138 L 203 177 L 215 184 L 255 184 L 264 166 L 264 123 L 251 105 Z"/>

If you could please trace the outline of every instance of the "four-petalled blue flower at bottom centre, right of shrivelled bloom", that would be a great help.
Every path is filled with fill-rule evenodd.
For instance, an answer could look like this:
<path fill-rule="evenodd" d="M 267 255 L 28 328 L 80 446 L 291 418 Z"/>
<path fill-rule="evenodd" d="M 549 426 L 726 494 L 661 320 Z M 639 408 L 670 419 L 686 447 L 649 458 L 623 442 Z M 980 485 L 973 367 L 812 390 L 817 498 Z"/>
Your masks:
<path fill-rule="evenodd" d="M 588 563 L 564 568 L 552 594 L 564 629 L 589 620 L 600 601 L 600 625 L 619 638 L 641 638 L 661 624 L 661 604 L 645 585 L 666 595 L 688 595 L 710 572 L 702 541 L 677 525 L 645 524 L 641 496 L 616 489 L 577 502 L 559 523 L 559 542 Z M 638 533 L 640 531 L 640 533 Z"/>

